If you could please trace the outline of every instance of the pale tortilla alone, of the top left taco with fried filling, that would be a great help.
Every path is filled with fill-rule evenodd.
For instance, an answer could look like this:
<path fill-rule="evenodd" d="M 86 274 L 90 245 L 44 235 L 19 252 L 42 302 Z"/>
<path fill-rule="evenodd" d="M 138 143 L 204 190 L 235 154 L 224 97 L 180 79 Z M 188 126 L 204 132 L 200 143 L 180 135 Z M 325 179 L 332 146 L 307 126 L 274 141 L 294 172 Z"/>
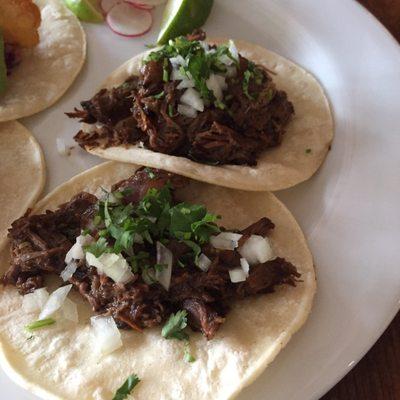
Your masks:
<path fill-rule="evenodd" d="M 72 85 L 86 57 L 85 33 L 62 0 L 34 0 L 42 23 L 39 44 L 22 50 L 21 63 L 0 94 L 0 122 L 27 117 L 53 105 Z"/>

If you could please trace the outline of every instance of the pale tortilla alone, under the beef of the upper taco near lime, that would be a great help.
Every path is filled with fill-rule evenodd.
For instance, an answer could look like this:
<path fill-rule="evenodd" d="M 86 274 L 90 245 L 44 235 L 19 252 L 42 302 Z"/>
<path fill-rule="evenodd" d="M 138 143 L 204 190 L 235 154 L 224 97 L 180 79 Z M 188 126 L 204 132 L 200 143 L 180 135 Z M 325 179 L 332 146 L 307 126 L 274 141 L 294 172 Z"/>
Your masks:
<path fill-rule="evenodd" d="M 226 43 L 227 39 L 214 39 L 211 43 Z M 324 161 L 333 140 L 333 120 L 324 90 L 309 72 L 297 64 L 261 46 L 235 40 L 239 52 L 261 64 L 273 73 L 276 86 L 284 90 L 295 108 L 295 116 L 286 127 L 282 144 L 266 150 L 258 158 L 257 166 L 212 166 L 144 149 L 129 147 L 87 148 L 100 157 L 161 168 L 203 182 L 242 190 L 275 191 L 286 189 L 309 179 Z M 101 88 L 121 85 L 132 75 L 138 75 L 143 58 L 139 54 L 116 71 Z M 91 125 L 83 124 L 83 130 Z"/>

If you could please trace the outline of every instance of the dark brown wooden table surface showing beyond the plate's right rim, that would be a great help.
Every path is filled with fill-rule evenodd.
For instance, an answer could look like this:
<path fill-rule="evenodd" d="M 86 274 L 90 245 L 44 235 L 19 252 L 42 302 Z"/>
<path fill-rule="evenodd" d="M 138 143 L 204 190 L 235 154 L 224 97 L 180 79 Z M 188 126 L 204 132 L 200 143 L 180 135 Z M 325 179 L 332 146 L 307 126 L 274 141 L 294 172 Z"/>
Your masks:
<path fill-rule="evenodd" d="M 400 0 L 359 1 L 400 41 Z M 359 364 L 321 400 L 400 400 L 400 313 Z"/>

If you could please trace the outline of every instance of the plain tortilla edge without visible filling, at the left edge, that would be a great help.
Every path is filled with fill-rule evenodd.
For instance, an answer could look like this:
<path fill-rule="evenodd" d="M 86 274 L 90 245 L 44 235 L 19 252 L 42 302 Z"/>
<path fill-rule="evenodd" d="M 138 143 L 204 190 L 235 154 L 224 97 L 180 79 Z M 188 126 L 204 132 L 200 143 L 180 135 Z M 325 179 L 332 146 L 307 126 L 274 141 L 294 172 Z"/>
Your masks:
<path fill-rule="evenodd" d="M 43 190 L 46 166 L 36 139 L 18 122 L 0 123 L 0 248 L 11 222 L 33 206 Z"/>

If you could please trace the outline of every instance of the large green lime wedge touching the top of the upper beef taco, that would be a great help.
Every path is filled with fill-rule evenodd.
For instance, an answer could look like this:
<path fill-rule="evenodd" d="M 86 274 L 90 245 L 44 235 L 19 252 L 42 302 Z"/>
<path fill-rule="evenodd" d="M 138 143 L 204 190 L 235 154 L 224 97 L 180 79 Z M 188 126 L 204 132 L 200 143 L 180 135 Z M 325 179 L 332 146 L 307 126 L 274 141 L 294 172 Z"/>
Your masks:
<path fill-rule="evenodd" d="M 204 25 L 214 0 L 168 0 L 165 6 L 157 43 L 193 32 Z"/>

